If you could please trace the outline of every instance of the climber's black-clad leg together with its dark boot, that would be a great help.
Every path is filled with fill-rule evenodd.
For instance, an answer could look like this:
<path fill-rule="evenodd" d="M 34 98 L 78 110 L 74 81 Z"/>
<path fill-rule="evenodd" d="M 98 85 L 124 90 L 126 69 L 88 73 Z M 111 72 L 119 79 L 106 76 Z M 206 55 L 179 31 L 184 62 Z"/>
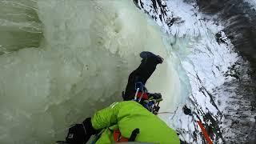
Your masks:
<path fill-rule="evenodd" d="M 136 87 L 138 85 L 141 84 L 146 89 L 146 81 L 154 73 L 156 66 L 163 62 L 163 58 L 149 51 L 143 51 L 140 54 L 140 57 L 142 58 L 142 63 L 130 74 L 126 86 L 126 91 L 122 94 L 124 101 L 130 101 L 134 99 L 134 94 L 136 93 Z"/>

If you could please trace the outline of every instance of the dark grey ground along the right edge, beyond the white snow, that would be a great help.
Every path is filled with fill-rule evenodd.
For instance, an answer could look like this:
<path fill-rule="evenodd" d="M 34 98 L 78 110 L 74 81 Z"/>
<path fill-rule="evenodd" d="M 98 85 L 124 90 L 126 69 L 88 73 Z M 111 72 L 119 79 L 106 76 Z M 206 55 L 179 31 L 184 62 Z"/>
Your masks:
<path fill-rule="evenodd" d="M 223 29 L 234 44 L 235 50 L 242 56 L 230 67 L 227 75 L 234 77 L 231 82 L 216 90 L 216 98 L 226 99 L 223 112 L 226 142 L 256 142 L 255 102 L 256 102 L 256 13 L 250 3 L 238 0 L 198 1 L 198 6 L 205 14 L 218 16 Z M 223 93 L 220 94 L 220 91 Z M 220 96 L 222 95 L 222 96 Z M 222 104 L 223 105 L 223 104 Z M 232 135 L 228 135 L 231 133 Z"/>

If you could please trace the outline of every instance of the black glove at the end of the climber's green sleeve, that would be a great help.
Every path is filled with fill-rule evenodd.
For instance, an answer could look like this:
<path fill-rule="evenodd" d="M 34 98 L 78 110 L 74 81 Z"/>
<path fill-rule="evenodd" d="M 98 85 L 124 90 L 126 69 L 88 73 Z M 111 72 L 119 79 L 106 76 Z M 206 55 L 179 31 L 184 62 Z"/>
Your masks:
<path fill-rule="evenodd" d="M 75 124 L 70 127 L 69 133 L 66 136 L 66 142 L 70 144 L 84 144 L 93 134 L 97 134 L 97 130 L 91 124 L 91 118 L 86 118 L 82 124 Z"/>

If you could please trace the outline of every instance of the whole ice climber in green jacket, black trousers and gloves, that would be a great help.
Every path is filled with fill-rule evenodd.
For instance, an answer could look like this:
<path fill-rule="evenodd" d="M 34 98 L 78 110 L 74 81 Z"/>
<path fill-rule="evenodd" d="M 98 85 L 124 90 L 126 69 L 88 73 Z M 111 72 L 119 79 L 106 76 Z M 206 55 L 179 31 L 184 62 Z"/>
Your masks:
<path fill-rule="evenodd" d="M 130 74 L 126 91 L 122 94 L 124 101 L 114 102 L 92 118 L 70 127 L 66 142 L 59 143 L 83 144 L 89 139 L 97 144 L 180 143 L 177 133 L 156 115 L 162 95 L 150 94 L 145 87 L 147 79 L 163 59 L 147 51 L 143 51 L 140 57 L 142 63 Z M 92 135 L 94 137 L 90 138 Z"/>

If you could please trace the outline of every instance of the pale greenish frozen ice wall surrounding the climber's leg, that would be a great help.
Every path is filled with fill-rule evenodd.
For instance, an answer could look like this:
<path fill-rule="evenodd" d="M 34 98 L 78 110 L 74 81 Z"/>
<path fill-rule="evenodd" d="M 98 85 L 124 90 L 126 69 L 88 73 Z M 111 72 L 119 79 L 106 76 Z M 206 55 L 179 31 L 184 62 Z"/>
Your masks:
<path fill-rule="evenodd" d="M 142 50 L 166 59 L 148 83 L 163 111 L 190 89 L 170 39 L 132 1 L 12 0 L 0 10 L 0 143 L 64 139 L 72 123 L 122 100 Z"/>

